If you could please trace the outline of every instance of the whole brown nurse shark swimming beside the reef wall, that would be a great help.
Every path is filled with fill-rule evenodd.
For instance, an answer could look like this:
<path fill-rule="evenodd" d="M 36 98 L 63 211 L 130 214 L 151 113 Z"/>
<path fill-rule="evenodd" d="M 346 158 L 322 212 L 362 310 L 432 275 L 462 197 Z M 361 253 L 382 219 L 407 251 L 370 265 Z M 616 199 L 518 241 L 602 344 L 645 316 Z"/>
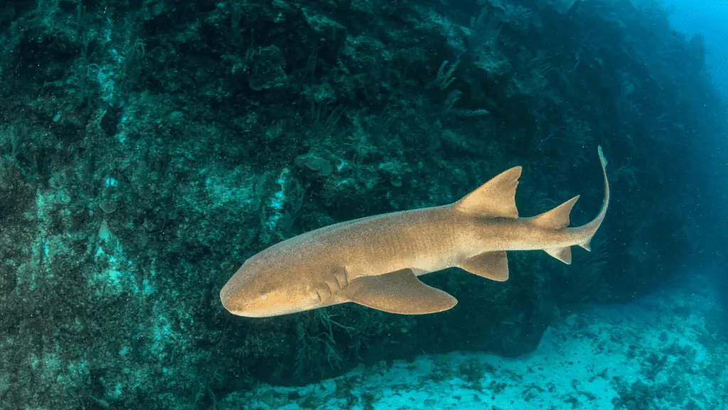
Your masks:
<path fill-rule="evenodd" d="M 287 239 L 245 260 L 220 292 L 225 309 L 271 317 L 354 302 L 397 314 L 427 314 L 457 303 L 417 276 L 459 267 L 496 281 L 508 279 L 507 251 L 545 250 L 571 263 L 571 246 L 589 250 L 609 205 L 569 228 L 579 196 L 536 217 L 518 217 L 516 166 L 454 204 L 364 217 Z"/>

